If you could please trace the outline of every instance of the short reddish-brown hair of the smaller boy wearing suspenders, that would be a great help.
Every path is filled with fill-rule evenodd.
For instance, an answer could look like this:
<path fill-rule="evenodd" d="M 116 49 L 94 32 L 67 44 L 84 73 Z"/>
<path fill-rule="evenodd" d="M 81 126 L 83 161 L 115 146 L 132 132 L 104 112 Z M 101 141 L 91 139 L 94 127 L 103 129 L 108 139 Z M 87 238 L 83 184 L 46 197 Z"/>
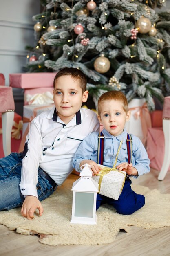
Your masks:
<path fill-rule="evenodd" d="M 126 99 L 126 96 L 123 92 L 120 91 L 110 91 L 110 92 L 105 92 L 104 94 L 102 94 L 99 97 L 98 100 L 98 115 L 100 116 L 101 113 L 101 108 L 102 108 L 102 103 L 104 101 L 111 101 L 111 100 L 115 100 L 115 101 L 121 101 L 123 104 L 123 109 L 126 112 L 126 114 L 128 113 L 128 101 Z"/>

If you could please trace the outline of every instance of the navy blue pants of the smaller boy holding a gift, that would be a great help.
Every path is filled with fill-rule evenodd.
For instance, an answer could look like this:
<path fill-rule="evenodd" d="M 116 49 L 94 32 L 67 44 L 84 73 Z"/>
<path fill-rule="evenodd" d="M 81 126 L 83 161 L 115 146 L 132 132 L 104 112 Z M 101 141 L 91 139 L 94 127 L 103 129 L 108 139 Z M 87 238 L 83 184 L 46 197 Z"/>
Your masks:
<path fill-rule="evenodd" d="M 130 184 L 132 181 L 127 178 L 124 183 L 121 195 L 118 200 L 108 198 L 105 195 L 97 194 L 96 210 L 102 204 L 110 204 L 119 214 L 132 214 L 135 211 L 139 210 L 145 204 L 144 195 L 137 195 L 131 188 Z"/>

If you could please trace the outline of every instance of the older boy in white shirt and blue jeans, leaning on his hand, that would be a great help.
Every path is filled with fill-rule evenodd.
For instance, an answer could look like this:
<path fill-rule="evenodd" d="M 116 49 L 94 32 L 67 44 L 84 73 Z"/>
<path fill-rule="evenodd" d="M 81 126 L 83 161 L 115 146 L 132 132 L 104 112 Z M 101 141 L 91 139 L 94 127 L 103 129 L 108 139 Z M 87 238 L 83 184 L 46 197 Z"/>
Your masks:
<path fill-rule="evenodd" d="M 81 108 L 88 91 L 80 70 L 58 72 L 53 95 L 55 107 L 31 122 L 23 154 L 11 153 L 0 159 L 0 210 L 22 206 L 21 213 L 29 220 L 37 208 L 42 215 L 40 201 L 71 173 L 81 141 L 99 130 L 95 112 Z"/>

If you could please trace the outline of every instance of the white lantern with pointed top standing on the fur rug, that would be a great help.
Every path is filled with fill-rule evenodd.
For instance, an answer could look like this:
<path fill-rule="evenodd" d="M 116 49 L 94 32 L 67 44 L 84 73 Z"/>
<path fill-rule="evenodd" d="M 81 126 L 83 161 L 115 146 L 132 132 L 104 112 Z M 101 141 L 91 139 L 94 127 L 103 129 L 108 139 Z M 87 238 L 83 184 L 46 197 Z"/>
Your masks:
<path fill-rule="evenodd" d="M 71 223 L 97 223 L 96 198 L 99 184 L 92 179 L 92 173 L 91 166 L 85 164 L 80 173 L 81 177 L 73 183 Z"/>

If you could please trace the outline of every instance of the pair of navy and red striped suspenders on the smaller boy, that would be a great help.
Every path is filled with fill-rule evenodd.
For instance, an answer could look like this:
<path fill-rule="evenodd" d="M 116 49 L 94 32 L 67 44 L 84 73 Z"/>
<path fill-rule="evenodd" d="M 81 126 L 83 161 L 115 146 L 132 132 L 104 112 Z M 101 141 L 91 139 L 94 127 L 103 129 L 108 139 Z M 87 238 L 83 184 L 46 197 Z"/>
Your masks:
<path fill-rule="evenodd" d="M 132 162 L 132 137 L 130 134 L 127 135 L 126 145 L 128 150 L 128 163 L 130 164 Z M 104 160 L 104 135 L 102 132 L 99 132 L 97 164 L 103 165 L 103 160 Z"/>

